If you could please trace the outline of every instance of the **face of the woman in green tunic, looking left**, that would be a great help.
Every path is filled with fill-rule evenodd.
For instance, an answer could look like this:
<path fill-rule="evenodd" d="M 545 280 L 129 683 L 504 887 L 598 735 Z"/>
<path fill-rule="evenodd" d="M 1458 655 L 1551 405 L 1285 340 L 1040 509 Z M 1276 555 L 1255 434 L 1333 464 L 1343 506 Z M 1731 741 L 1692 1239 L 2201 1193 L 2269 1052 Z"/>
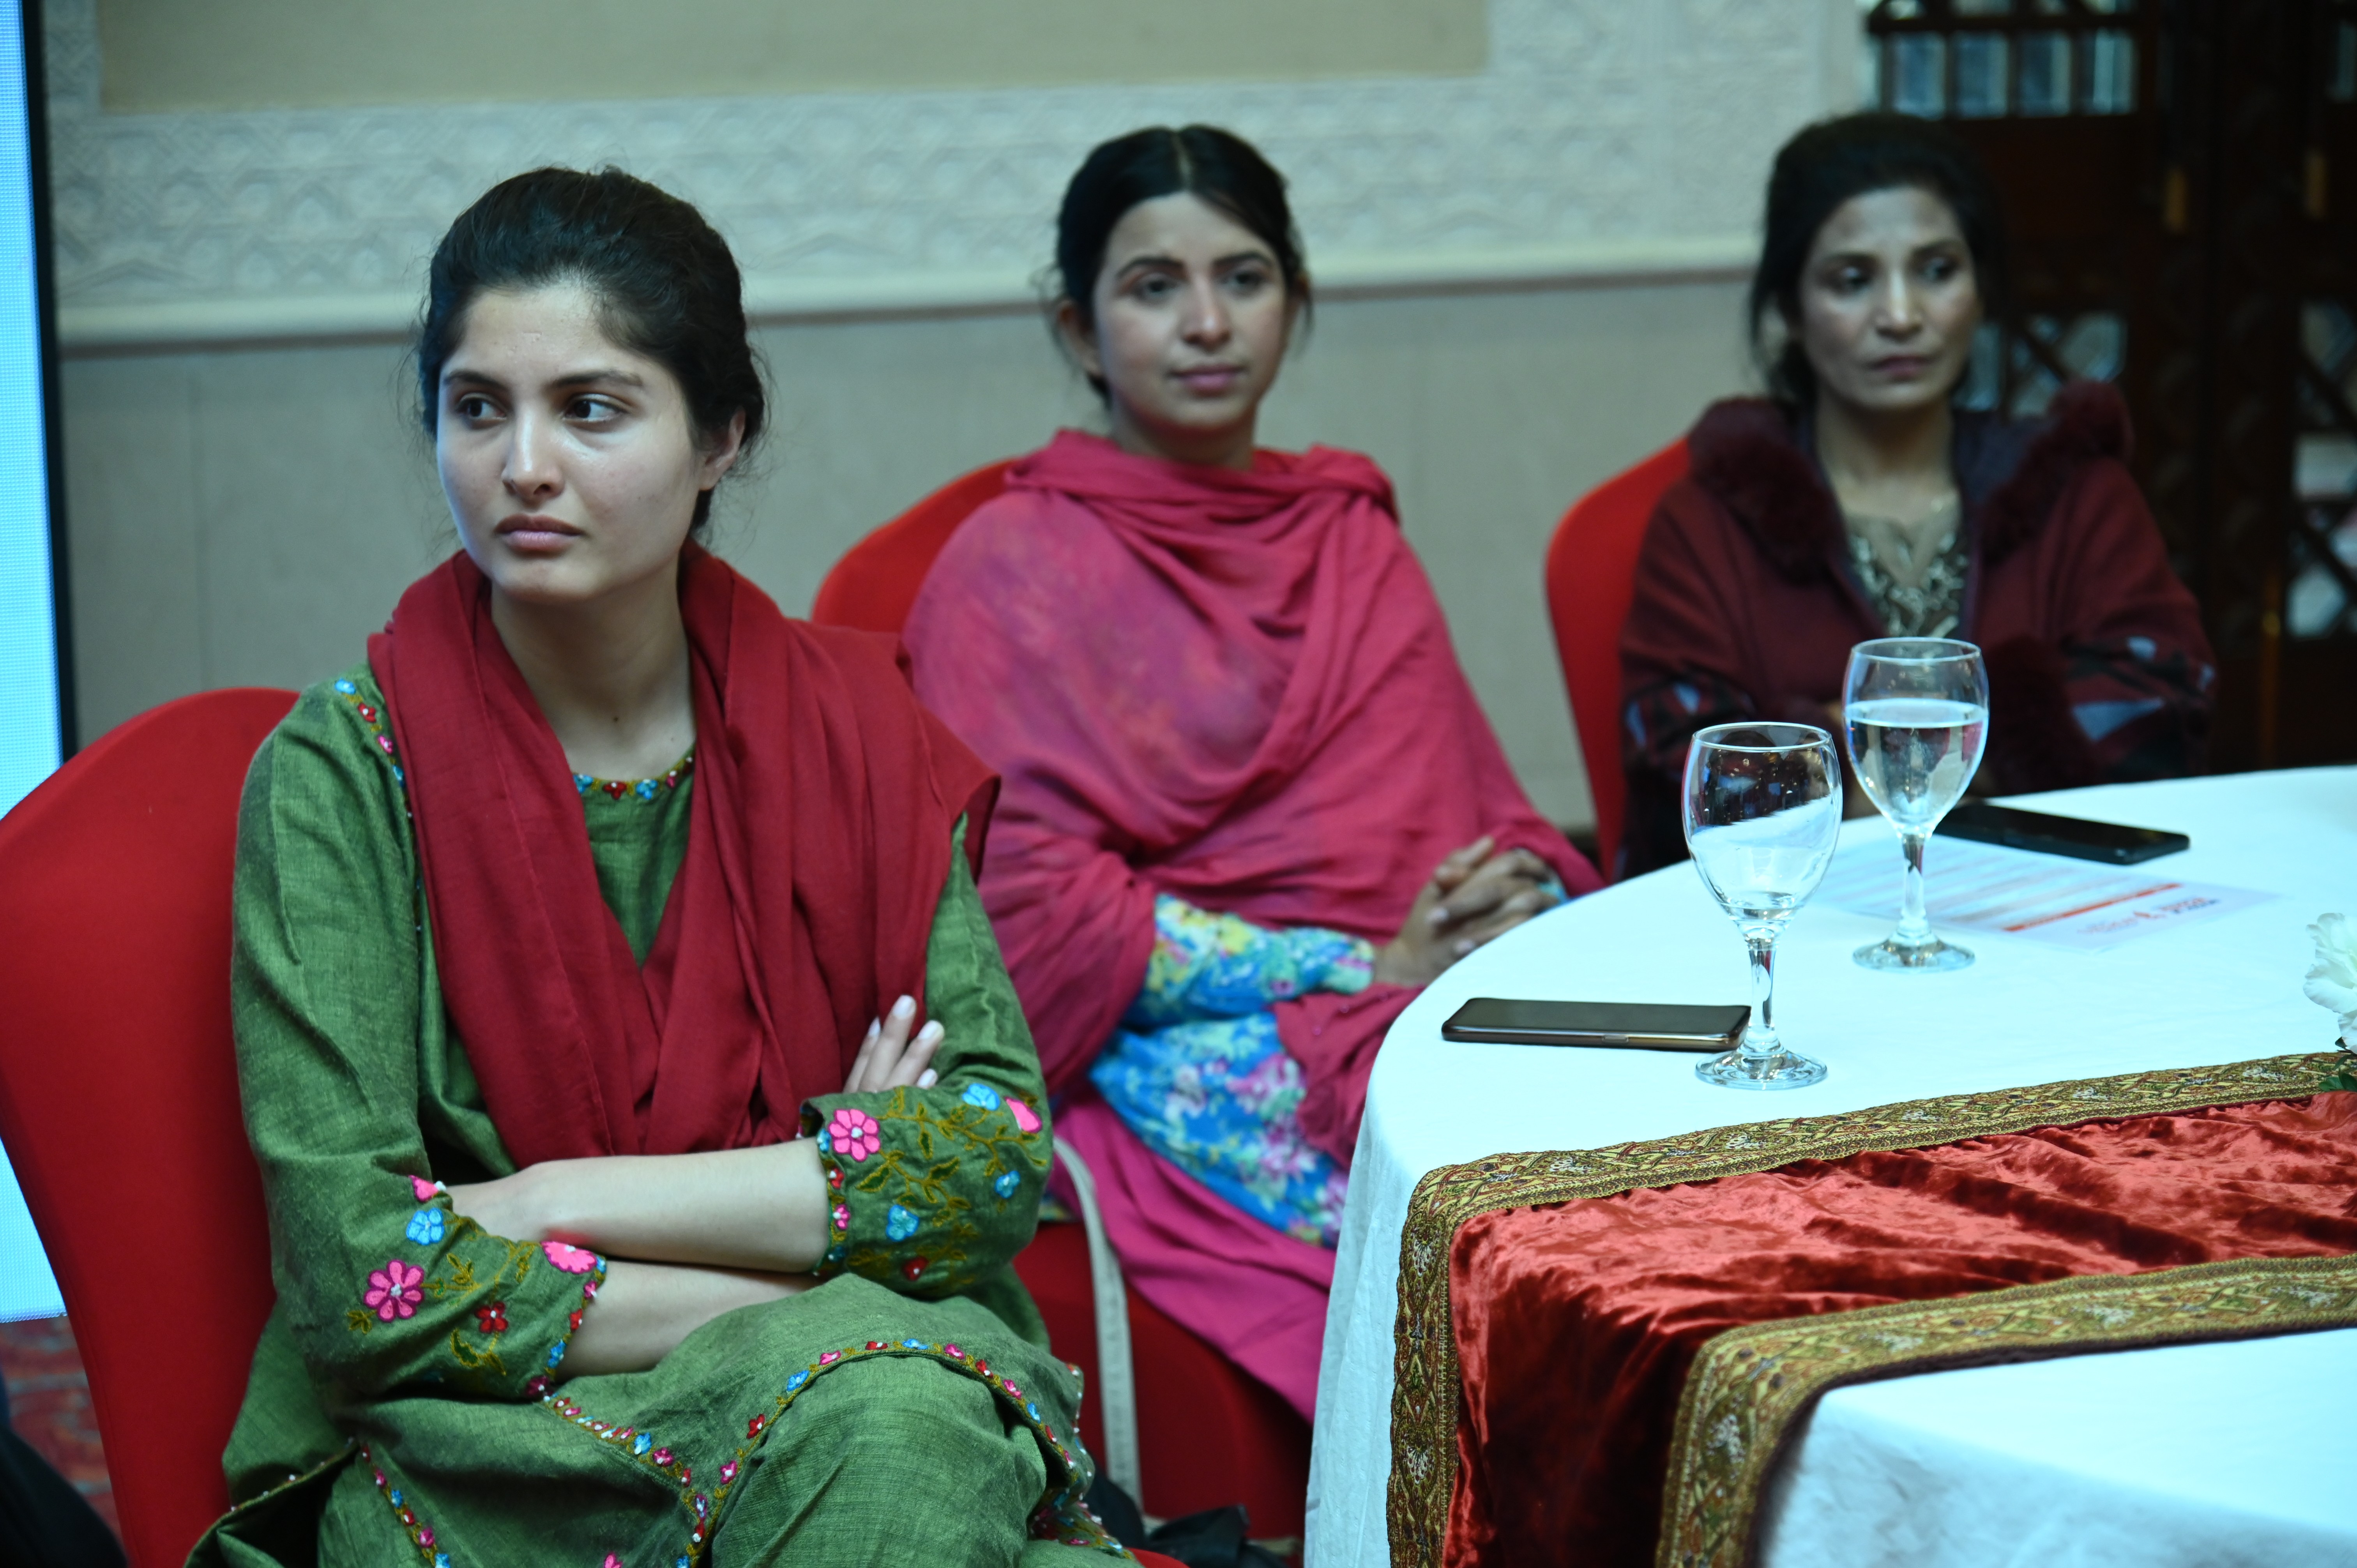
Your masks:
<path fill-rule="evenodd" d="M 434 460 L 460 542 L 500 592 L 587 604 L 667 573 L 742 420 L 695 439 L 679 382 L 577 283 L 488 290 L 443 363 Z"/>

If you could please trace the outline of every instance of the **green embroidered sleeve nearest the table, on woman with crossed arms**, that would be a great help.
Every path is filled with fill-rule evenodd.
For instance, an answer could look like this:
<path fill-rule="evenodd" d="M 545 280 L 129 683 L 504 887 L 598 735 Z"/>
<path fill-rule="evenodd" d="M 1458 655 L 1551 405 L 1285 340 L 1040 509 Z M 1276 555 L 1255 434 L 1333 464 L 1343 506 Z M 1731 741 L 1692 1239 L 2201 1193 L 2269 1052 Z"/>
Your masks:
<path fill-rule="evenodd" d="M 1011 1264 L 1039 1221 L 1047 1087 L 964 837 L 959 818 L 924 964 L 926 1012 L 943 1026 L 940 1082 L 823 1094 L 801 1111 L 832 1188 L 820 1278 L 858 1273 L 905 1294 L 950 1294 Z"/>

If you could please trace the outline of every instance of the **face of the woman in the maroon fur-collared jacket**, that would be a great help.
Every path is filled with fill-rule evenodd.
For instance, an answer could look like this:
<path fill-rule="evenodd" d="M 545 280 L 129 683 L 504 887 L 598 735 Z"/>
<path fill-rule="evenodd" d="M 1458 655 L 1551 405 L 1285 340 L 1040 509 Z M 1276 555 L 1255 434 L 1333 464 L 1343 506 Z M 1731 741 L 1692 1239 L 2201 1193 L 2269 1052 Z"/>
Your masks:
<path fill-rule="evenodd" d="M 1817 229 L 1801 269 L 1801 351 L 1822 396 L 1857 413 L 1947 401 L 1980 325 L 1973 250 L 1930 191 L 1853 196 Z"/>

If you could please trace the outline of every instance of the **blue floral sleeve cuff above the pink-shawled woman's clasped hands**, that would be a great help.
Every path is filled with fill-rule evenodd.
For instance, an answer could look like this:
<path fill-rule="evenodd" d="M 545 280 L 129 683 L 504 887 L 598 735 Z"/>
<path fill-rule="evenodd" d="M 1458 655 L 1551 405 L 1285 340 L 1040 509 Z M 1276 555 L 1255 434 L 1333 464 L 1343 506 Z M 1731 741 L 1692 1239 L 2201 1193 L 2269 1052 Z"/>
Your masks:
<path fill-rule="evenodd" d="M 1374 946 L 1318 927 L 1270 929 L 1214 915 L 1183 898 L 1155 898 L 1155 950 L 1127 1028 L 1244 1019 L 1313 990 L 1343 995 L 1374 979 Z"/>

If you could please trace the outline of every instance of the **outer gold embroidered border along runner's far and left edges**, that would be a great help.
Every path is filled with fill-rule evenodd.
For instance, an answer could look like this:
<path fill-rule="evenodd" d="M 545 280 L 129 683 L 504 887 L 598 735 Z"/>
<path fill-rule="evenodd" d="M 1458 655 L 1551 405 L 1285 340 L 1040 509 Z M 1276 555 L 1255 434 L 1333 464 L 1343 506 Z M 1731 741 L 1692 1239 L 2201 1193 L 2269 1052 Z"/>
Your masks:
<path fill-rule="evenodd" d="M 2029 1132 L 2032 1127 L 2069 1127 L 2074 1122 L 2293 1099 L 2317 1092 L 2319 1080 L 2338 1061 L 2341 1052 L 2312 1052 L 2211 1068 L 2161 1068 L 2020 1089 L 1942 1094 L 1843 1115 L 1711 1127 L 1688 1137 L 1648 1139 L 1615 1148 L 1506 1153 L 1428 1170 L 1407 1200 L 1407 1224 L 1400 1228 L 1400 1313 L 1393 1330 L 1391 1485 L 1386 1500 L 1391 1561 L 1398 1568 L 1438 1568 L 1447 1535 L 1450 1493 L 1457 1485 L 1457 1335 L 1450 1323 L 1450 1247 L 1457 1226 L 1475 1214 L 1610 1198 L 1643 1186 L 1716 1181 L 1718 1177 L 1775 1170 L 1794 1160 L 1848 1160 L 1867 1151 L 1928 1148 L 1959 1139 Z M 1956 1302 L 1937 1306 L 1954 1311 Z"/>

